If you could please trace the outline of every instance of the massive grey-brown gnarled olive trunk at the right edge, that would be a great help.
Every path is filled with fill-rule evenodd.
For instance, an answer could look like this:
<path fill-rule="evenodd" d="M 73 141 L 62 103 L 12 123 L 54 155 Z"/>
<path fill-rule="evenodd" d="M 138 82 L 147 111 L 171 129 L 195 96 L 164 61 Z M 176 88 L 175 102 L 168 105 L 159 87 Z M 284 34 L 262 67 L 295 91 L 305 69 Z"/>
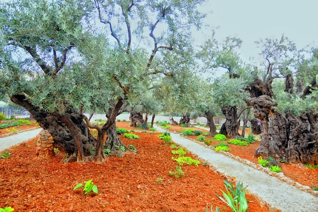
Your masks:
<path fill-rule="evenodd" d="M 269 89 L 267 89 L 269 88 Z M 262 122 L 262 139 L 255 150 L 257 157 L 275 157 L 289 163 L 318 163 L 318 115 L 310 112 L 299 117 L 275 110 L 271 82 L 256 78 L 250 84 L 251 98 L 246 103 Z"/>

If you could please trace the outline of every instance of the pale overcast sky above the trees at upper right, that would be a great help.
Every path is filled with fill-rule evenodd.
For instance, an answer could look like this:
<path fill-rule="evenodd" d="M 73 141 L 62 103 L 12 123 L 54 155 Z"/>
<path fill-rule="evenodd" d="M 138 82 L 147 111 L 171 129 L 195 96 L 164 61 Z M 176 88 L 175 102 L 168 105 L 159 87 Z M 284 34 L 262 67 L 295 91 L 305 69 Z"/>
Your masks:
<path fill-rule="evenodd" d="M 318 45 L 316 0 L 208 0 L 200 10 L 208 13 L 205 22 L 209 28 L 219 26 L 217 40 L 227 36 L 242 39 L 241 57 L 245 61 L 258 57 L 254 42 L 268 37 L 279 39 L 284 34 L 299 49 Z M 207 29 L 201 38 L 208 38 L 209 34 Z"/>

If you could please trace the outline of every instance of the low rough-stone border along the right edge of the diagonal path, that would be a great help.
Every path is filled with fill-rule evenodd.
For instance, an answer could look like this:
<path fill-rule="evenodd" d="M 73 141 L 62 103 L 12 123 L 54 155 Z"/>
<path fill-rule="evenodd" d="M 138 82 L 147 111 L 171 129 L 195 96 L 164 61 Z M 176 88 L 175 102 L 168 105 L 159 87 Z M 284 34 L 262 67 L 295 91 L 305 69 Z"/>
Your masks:
<path fill-rule="evenodd" d="M 157 126 L 158 126 L 158 125 L 157 125 Z M 161 127 L 161 126 L 158 126 L 158 127 Z M 171 131 L 171 130 L 169 130 L 169 129 L 165 129 L 165 128 L 162 128 L 162 129 L 167 130 L 167 131 L 172 132 L 172 133 L 177 133 L 177 132 Z M 188 137 L 182 135 L 181 133 L 180 133 L 179 135 L 182 136 L 182 137 L 184 137 L 184 138 L 186 138 L 186 139 L 188 139 L 188 140 L 194 141 L 194 142 L 196 142 L 196 143 L 198 143 L 198 144 L 200 144 L 200 145 L 202 145 L 202 146 L 204 146 L 204 147 L 206 147 L 206 148 L 210 148 L 210 149 L 212 149 L 212 150 L 215 151 L 215 147 L 213 147 L 213 146 L 208 146 L 208 145 L 204 144 L 203 142 L 197 141 L 197 140 L 195 140 L 195 139 L 188 138 Z M 242 159 L 242 158 L 240 158 L 240 157 L 238 157 L 238 156 L 234 156 L 233 154 L 228 153 L 228 152 L 219 151 L 218 153 L 223 154 L 223 155 L 225 155 L 225 156 L 227 156 L 227 157 L 229 157 L 229 158 L 232 158 L 232 159 L 234 159 L 234 160 L 236 160 L 236 161 L 238 161 L 238 162 L 241 162 L 241 163 L 243 163 L 243 164 L 245 164 L 245 165 L 247 165 L 247 166 L 250 166 L 250 167 L 252 167 L 252 168 L 254 168 L 254 169 L 263 171 L 264 173 L 266 173 L 266 174 L 268 174 L 268 175 L 270 175 L 270 176 L 274 176 L 274 177 L 280 179 L 281 181 L 284 181 L 285 183 L 287 183 L 287 184 L 289 184 L 289 185 L 291 185 L 291 186 L 296 187 L 297 189 L 299 189 L 299 190 L 301 190 L 301 191 L 307 192 L 307 193 L 309 193 L 309 194 L 311 194 L 311 195 L 313 195 L 313 196 L 315 196 L 315 197 L 318 197 L 318 191 L 314 191 L 314 190 L 312 190 L 309 186 L 304 186 L 304 185 L 302 185 L 302 184 L 300 184 L 300 183 L 294 181 L 293 179 L 291 179 L 291 178 L 285 176 L 284 173 L 282 173 L 282 172 L 280 172 L 280 173 L 273 172 L 273 171 L 271 171 L 269 168 L 263 167 L 261 164 L 255 164 L 255 163 L 253 163 L 253 162 L 251 162 L 251 161 L 249 161 L 249 160 Z M 212 170 L 213 170 L 213 169 L 212 169 Z M 213 171 L 214 171 L 214 170 L 213 170 Z M 215 171 L 214 171 L 214 172 L 215 172 Z M 216 170 L 216 172 L 219 173 L 217 170 Z M 224 175 L 224 173 L 222 173 L 222 175 Z M 230 178 L 231 178 L 231 177 L 230 177 Z"/>

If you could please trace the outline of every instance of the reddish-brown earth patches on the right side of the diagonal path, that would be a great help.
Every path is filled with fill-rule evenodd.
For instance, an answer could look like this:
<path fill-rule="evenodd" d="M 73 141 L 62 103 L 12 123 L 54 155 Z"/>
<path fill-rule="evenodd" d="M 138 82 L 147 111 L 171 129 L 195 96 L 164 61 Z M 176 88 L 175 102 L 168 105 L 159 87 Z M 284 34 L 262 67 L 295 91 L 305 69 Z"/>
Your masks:
<path fill-rule="evenodd" d="M 170 125 L 169 125 L 170 126 Z M 179 126 L 170 126 L 170 131 L 174 132 L 180 132 L 184 131 L 187 128 L 179 127 Z M 198 130 L 198 128 L 192 127 L 190 129 Z M 199 129 L 202 132 L 208 132 L 207 130 Z M 250 129 L 245 130 L 245 135 L 247 135 L 250 132 Z M 241 131 L 239 131 L 241 133 Z M 207 139 L 212 140 L 213 137 L 206 136 Z M 196 139 L 197 136 L 189 136 L 189 138 Z M 258 135 L 256 135 L 256 138 L 258 138 Z M 226 141 L 225 141 L 226 142 Z M 219 141 L 213 141 L 211 145 L 217 145 L 219 144 Z M 234 156 L 238 156 L 242 159 L 249 160 L 255 164 L 258 164 L 257 157 L 254 156 L 254 150 L 260 145 L 260 141 L 256 141 L 254 143 L 251 143 L 249 146 L 237 146 L 233 144 L 229 144 L 230 147 L 230 153 Z M 318 186 L 318 169 L 308 169 L 303 164 L 285 164 L 282 163 L 282 169 L 281 172 L 284 173 L 285 176 L 293 179 L 294 181 L 304 185 L 309 186 L 311 188 L 314 188 Z"/>

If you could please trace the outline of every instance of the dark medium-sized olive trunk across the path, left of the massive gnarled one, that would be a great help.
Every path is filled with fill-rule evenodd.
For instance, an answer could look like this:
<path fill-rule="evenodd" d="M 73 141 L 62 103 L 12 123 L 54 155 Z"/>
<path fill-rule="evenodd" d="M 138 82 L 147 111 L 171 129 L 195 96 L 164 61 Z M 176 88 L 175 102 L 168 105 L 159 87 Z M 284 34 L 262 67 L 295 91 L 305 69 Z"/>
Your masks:
<path fill-rule="evenodd" d="M 220 134 L 226 135 L 229 138 L 240 136 L 238 133 L 240 123 L 237 117 L 236 106 L 225 106 L 221 108 L 222 113 L 225 115 L 226 121 L 222 125 Z"/>

